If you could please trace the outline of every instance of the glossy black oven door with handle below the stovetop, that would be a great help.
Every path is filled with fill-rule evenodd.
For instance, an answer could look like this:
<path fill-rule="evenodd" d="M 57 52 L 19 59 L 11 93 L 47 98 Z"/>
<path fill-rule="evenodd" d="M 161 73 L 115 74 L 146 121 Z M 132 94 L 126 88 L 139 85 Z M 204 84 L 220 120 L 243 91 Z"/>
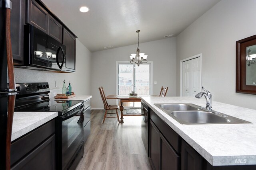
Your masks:
<path fill-rule="evenodd" d="M 84 140 L 84 105 L 73 109 L 62 116 L 62 169 L 70 165 Z"/>

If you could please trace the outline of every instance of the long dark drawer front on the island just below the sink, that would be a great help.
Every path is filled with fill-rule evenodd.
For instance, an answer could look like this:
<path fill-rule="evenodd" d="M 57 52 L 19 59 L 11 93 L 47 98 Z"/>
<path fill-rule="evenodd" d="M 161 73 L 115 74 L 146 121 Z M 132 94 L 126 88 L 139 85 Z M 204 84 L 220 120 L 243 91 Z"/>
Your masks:
<path fill-rule="evenodd" d="M 181 150 L 181 137 L 168 126 L 154 111 L 150 109 L 150 119 L 155 123 L 167 141 L 172 145 L 178 154 Z"/>

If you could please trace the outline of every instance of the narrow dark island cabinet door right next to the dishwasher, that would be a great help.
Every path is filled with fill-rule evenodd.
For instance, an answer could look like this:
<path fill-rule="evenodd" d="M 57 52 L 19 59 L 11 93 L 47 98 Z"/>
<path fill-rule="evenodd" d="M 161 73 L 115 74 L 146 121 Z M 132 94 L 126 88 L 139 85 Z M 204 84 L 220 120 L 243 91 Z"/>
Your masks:
<path fill-rule="evenodd" d="M 149 126 L 149 158 L 154 170 L 159 170 L 159 130 L 150 120 Z"/>

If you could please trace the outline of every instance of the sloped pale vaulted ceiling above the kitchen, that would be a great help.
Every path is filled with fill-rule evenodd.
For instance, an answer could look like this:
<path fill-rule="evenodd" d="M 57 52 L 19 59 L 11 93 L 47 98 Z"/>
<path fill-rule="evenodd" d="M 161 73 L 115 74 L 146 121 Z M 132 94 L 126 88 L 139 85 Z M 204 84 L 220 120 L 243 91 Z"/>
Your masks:
<path fill-rule="evenodd" d="M 177 36 L 220 0 L 42 0 L 91 52 Z M 82 13 L 81 6 L 90 11 Z"/>

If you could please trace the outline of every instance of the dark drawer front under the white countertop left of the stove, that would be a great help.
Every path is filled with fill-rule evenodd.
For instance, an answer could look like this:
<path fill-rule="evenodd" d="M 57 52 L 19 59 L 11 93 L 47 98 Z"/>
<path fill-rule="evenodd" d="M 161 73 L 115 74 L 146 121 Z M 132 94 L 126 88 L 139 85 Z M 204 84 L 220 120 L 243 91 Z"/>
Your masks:
<path fill-rule="evenodd" d="M 36 146 L 40 145 L 46 138 L 55 133 L 55 120 L 52 120 L 38 129 L 20 137 L 11 144 L 11 165 L 28 154 Z"/>

